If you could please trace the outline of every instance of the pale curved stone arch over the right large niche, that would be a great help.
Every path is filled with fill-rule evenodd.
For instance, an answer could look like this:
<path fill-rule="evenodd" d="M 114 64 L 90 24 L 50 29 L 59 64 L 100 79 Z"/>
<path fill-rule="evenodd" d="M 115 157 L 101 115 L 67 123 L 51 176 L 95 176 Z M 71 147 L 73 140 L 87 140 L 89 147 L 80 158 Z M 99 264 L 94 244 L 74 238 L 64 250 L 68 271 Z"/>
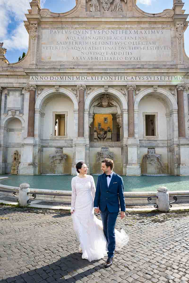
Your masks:
<path fill-rule="evenodd" d="M 164 103 L 166 110 L 168 108 L 169 112 L 171 110 L 178 110 L 177 101 L 173 95 L 168 90 L 160 87 L 158 87 L 158 91 L 156 93 L 154 93 L 154 89 L 152 87 L 141 91 L 135 99 L 134 110 L 138 110 L 140 100 L 146 95 L 153 95 L 156 98 L 160 98 Z"/>

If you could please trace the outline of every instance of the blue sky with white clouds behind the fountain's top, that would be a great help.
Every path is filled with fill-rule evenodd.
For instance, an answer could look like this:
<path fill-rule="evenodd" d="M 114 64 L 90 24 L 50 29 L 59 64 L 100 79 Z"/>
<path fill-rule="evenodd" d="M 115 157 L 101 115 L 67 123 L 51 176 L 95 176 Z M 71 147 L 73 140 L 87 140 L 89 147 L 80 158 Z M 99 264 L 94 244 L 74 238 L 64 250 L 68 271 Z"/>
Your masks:
<path fill-rule="evenodd" d="M 0 0 L 0 42 L 7 48 L 6 58 L 10 63 L 18 61 L 23 52 L 27 52 L 28 34 L 23 21 L 24 14 L 30 8 L 29 0 Z M 184 1 L 183 1 L 184 2 Z M 189 14 L 189 1 L 184 5 Z M 173 0 L 137 0 L 137 5 L 145 12 L 159 13 L 173 7 Z M 52 12 L 67 12 L 75 6 L 75 0 L 41 0 L 41 7 Z M 188 19 L 189 20 L 189 19 Z M 185 50 L 189 56 L 189 28 L 185 32 Z"/>

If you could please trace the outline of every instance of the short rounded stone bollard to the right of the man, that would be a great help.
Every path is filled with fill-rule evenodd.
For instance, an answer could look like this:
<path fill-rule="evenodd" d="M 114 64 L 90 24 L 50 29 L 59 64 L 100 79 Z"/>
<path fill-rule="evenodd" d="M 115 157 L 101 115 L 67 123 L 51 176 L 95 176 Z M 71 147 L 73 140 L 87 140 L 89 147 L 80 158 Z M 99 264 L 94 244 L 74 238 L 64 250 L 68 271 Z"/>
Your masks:
<path fill-rule="evenodd" d="M 157 192 L 157 205 L 158 210 L 162 212 L 169 211 L 169 193 L 166 187 L 159 187 Z"/>

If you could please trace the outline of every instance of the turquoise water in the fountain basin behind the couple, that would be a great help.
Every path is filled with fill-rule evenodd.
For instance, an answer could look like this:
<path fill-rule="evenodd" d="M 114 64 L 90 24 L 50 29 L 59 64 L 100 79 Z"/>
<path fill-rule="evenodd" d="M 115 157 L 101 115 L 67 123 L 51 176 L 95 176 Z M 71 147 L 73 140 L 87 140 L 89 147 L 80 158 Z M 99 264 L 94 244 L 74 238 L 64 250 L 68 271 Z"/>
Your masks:
<path fill-rule="evenodd" d="M 30 188 L 46 190 L 71 190 L 71 175 L 44 176 L 44 175 L 0 175 L 9 177 L 1 181 L 1 184 L 19 187 L 21 183 L 28 183 Z M 98 176 L 93 176 L 95 184 Z M 166 186 L 169 191 L 189 190 L 189 176 L 122 176 L 125 192 L 156 191 L 158 186 Z"/>

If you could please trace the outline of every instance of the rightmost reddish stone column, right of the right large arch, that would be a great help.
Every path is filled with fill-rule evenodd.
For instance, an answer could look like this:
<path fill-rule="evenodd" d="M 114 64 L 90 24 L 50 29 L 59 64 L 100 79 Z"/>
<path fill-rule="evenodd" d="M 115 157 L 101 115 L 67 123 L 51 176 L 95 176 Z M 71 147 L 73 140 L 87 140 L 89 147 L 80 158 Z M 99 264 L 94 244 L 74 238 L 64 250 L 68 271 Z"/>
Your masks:
<path fill-rule="evenodd" d="M 185 90 L 186 90 L 185 85 L 177 85 L 179 138 L 186 137 L 185 118 L 184 118 L 184 96 L 183 96 L 183 92 Z"/>

